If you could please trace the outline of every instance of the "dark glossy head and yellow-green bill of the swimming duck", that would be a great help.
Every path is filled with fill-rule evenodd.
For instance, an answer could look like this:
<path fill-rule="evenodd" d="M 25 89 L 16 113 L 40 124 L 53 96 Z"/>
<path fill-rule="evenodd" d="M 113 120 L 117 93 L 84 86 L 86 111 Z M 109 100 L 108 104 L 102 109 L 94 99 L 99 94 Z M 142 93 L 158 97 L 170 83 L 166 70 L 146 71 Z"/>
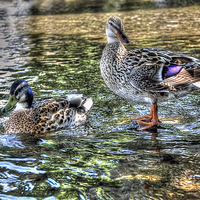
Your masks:
<path fill-rule="evenodd" d="M 5 113 L 15 107 L 15 110 L 29 109 L 33 102 L 33 92 L 25 80 L 15 81 L 10 88 L 10 98 L 2 109 Z"/>

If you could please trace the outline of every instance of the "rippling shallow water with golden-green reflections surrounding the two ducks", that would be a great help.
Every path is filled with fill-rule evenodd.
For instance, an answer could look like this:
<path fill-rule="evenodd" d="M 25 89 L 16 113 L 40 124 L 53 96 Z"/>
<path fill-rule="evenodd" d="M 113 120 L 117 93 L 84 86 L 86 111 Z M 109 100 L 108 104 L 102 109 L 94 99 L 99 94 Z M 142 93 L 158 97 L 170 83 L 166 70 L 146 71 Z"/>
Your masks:
<path fill-rule="evenodd" d="M 76 88 L 94 107 L 84 126 L 41 138 L 4 135 L 9 115 L 1 116 L 0 199 L 199 199 L 200 92 L 160 104 L 162 124 L 137 131 L 130 119 L 150 105 L 116 97 L 99 62 L 114 15 L 131 39 L 127 49 L 200 58 L 200 7 L 16 16 L 12 5 L 0 12 L 0 107 L 19 78 L 35 98 Z"/>

